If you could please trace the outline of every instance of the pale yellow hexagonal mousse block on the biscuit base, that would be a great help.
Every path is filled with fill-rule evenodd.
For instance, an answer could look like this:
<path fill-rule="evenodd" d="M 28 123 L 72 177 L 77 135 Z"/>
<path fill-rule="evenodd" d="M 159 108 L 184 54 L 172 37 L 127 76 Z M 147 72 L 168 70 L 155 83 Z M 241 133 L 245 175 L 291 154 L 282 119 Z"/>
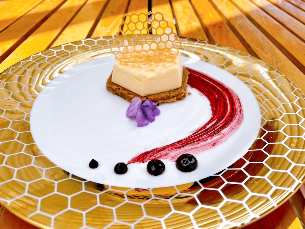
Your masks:
<path fill-rule="evenodd" d="M 140 96 L 179 88 L 182 82 L 180 53 L 170 62 L 127 63 L 116 60 L 112 82 Z"/>

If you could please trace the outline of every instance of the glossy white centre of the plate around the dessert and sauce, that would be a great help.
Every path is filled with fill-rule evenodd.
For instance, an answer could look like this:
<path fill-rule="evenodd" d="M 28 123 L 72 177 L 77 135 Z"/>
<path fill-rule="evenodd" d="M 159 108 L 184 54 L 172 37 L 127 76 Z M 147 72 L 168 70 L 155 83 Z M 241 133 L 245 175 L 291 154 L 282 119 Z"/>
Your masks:
<path fill-rule="evenodd" d="M 117 175 L 117 162 L 189 136 L 211 115 L 210 104 L 198 91 L 184 100 L 162 103 L 161 115 L 138 128 L 125 112 L 129 103 L 106 90 L 114 64 L 108 56 L 73 67 L 52 80 L 37 96 L 31 110 L 30 128 L 41 152 L 60 168 L 101 184 L 120 187 L 167 187 L 211 176 L 242 157 L 253 144 L 260 128 L 260 110 L 251 90 L 238 78 L 211 64 L 183 57 L 183 65 L 223 82 L 239 96 L 244 112 L 240 128 L 223 144 L 196 156 L 199 165 L 182 173 L 172 161 L 164 161 L 165 172 L 151 176 L 146 163 L 128 165 Z M 88 163 L 94 158 L 97 169 Z"/>

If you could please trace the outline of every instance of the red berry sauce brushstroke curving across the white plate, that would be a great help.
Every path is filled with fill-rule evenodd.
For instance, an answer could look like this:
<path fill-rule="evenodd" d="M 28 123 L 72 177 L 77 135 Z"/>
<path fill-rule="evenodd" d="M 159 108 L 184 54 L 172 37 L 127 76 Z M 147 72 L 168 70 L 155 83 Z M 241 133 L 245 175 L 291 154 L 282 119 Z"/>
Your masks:
<path fill-rule="evenodd" d="M 210 101 L 212 109 L 210 120 L 190 136 L 141 153 L 132 158 L 128 164 L 144 163 L 152 159 L 175 161 L 184 153 L 196 155 L 224 142 L 239 128 L 243 113 L 239 97 L 235 92 L 202 72 L 187 69 L 189 71 L 188 85 L 197 89 Z"/>

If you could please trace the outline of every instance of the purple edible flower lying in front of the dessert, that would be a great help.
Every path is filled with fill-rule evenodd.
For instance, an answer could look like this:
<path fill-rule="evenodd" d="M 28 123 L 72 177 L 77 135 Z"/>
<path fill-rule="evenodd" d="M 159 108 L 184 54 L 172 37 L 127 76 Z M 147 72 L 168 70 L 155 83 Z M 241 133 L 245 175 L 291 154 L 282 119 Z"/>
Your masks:
<path fill-rule="evenodd" d="M 127 118 L 134 116 L 138 127 L 148 125 L 149 122 L 155 121 L 156 116 L 160 115 L 160 110 L 156 105 L 151 100 L 147 100 L 142 104 L 142 100 L 139 97 L 135 97 L 129 104 L 126 116 Z"/>

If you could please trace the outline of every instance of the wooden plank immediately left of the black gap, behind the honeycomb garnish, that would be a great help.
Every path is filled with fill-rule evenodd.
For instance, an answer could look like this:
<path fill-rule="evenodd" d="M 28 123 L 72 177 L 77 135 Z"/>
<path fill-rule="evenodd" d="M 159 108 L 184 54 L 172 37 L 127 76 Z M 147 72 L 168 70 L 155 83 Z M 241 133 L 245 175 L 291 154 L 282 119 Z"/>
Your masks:
<path fill-rule="evenodd" d="M 131 0 L 129 3 L 129 7 L 128 7 L 128 14 L 132 14 L 132 13 L 148 13 L 148 1 L 143 1 L 143 0 Z M 145 18 L 142 16 L 141 20 L 145 20 Z M 130 22 L 130 20 L 128 20 L 127 18 L 125 18 L 125 22 L 128 23 Z M 145 23 L 144 24 L 144 28 L 147 28 L 148 24 Z M 128 28 L 132 31 L 135 29 L 135 26 L 133 26 L 132 24 L 128 25 Z M 139 29 L 142 29 L 143 27 L 138 27 Z M 123 31 L 125 31 L 127 29 L 127 26 L 124 25 Z M 131 31 L 127 31 L 126 34 L 132 34 Z M 147 34 L 146 30 L 141 31 L 142 34 Z M 140 32 L 135 31 L 134 34 L 140 34 Z"/>

